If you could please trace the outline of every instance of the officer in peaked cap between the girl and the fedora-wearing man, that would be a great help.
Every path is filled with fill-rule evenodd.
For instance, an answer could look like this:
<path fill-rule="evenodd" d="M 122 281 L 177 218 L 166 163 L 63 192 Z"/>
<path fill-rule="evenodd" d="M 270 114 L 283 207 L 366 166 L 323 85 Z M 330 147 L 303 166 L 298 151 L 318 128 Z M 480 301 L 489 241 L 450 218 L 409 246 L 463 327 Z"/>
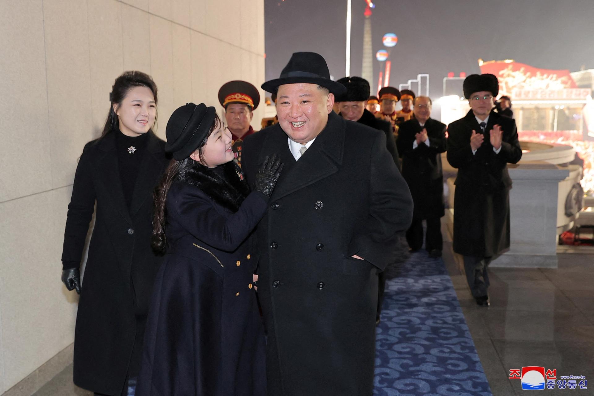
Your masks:
<path fill-rule="evenodd" d="M 260 93 L 247 81 L 229 81 L 219 90 L 219 103 L 225 107 L 225 121 L 233 138 L 232 150 L 241 166 L 244 140 L 254 133 L 249 123 L 254 118 L 253 111 L 260 104 Z"/>

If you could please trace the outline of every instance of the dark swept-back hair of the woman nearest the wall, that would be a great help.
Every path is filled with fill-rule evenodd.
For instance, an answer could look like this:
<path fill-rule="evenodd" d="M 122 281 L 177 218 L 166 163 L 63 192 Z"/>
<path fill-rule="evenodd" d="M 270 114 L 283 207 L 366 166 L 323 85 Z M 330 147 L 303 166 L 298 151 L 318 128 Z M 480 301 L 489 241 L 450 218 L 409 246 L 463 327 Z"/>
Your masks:
<path fill-rule="evenodd" d="M 113 111 L 113 105 L 118 107 L 129 90 L 134 87 L 147 87 L 153 92 L 154 104 L 157 104 L 157 85 L 154 83 L 153 78 L 150 75 L 141 71 L 125 71 L 113 83 L 112 91 L 109 93 L 109 113 L 108 118 L 105 120 L 103 125 L 103 131 L 101 137 L 109 134 L 109 132 L 117 131 L 119 128 L 119 119 L 115 111 Z M 154 123 L 157 123 L 157 116 L 154 118 Z M 149 130 L 151 132 L 153 128 Z"/>

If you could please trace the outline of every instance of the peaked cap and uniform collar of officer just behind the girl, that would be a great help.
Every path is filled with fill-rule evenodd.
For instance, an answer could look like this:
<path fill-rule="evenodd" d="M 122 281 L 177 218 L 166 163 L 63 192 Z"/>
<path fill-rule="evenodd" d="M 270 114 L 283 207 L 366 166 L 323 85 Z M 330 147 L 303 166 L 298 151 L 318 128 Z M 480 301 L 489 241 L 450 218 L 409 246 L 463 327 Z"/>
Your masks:
<path fill-rule="evenodd" d="M 254 111 L 258 107 L 258 104 L 260 104 L 260 93 L 258 93 L 258 90 L 254 85 L 247 81 L 229 81 L 228 83 L 223 84 L 219 90 L 219 103 L 225 107 L 225 110 L 227 110 L 229 104 L 240 103 L 245 104 L 251 111 Z M 254 128 L 252 128 L 251 125 L 249 126 L 248 131 L 241 137 L 238 137 L 231 132 L 231 136 L 233 137 L 231 150 L 233 150 L 235 160 L 239 166 L 241 166 L 241 150 L 244 145 L 244 140 L 254 132 Z"/>

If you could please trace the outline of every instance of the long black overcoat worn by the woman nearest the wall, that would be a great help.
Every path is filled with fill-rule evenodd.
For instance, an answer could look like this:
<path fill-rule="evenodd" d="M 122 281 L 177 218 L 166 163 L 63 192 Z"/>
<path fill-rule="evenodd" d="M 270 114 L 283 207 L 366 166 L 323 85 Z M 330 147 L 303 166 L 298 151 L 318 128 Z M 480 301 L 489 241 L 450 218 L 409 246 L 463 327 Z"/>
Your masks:
<path fill-rule="evenodd" d="M 120 132 L 84 147 L 74 176 L 62 252 L 62 261 L 80 262 L 96 205 L 74 334 L 74 383 L 106 395 L 119 395 L 124 387 L 137 335 L 136 316 L 147 313 L 162 261 L 150 246 L 152 192 L 169 162 L 165 142 L 149 132 L 128 209 L 116 133 Z"/>

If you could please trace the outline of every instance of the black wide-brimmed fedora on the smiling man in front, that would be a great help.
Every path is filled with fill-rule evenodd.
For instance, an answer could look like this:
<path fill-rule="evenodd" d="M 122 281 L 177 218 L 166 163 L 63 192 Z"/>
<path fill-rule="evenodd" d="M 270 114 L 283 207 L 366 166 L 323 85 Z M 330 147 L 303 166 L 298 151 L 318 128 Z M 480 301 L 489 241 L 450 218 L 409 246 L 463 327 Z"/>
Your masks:
<path fill-rule="evenodd" d="M 326 60 L 319 53 L 295 52 L 289 63 L 280 73 L 280 78 L 266 81 L 262 89 L 276 93 L 280 85 L 284 84 L 318 84 L 328 88 L 335 96 L 346 92 L 345 85 L 330 80 L 330 71 Z"/>

